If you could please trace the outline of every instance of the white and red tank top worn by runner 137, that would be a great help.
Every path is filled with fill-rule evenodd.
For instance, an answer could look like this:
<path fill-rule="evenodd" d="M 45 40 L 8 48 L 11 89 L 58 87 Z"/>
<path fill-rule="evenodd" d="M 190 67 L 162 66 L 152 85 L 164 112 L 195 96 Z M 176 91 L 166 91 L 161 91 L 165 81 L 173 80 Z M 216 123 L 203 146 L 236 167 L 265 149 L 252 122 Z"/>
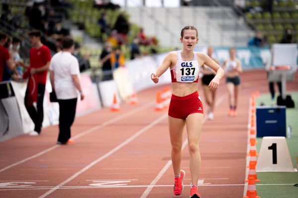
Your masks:
<path fill-rule="evenodd" d="M 172 82 L 193 83 L 198 82 L 199 63 L 197 53 L 191 61 L 184 61 L 181 51 L 178 51 L 178 59 L 175 67 L 171 69 Z"/>

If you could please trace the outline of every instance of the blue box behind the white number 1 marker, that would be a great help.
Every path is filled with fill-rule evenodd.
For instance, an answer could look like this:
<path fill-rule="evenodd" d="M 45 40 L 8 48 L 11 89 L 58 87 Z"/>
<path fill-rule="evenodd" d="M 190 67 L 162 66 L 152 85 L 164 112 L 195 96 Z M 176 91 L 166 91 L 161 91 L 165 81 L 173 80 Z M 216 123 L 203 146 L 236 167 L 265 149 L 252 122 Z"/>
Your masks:
<path fill-rule="evenodd" d="M 257 137 L 286 137 L 286 106 L 257 106 Z"/>

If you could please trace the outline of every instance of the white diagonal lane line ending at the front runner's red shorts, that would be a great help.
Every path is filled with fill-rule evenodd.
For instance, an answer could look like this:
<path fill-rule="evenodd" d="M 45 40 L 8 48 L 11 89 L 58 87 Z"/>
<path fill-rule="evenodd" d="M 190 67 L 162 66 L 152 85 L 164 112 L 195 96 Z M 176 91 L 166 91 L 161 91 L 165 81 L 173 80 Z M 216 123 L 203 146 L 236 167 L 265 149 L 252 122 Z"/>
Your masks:
<path fill-rule="evenodd" d="M 90 164 L 88 164 L 87 166 L 85 166 L 80 171 L 74 173 L 73 176 L 71 176 L 70 178 L 68 178 L 67 180 L 65 180 L 64 182 L 62 182 L 61 184 L 57 185 L 56 187 L 54 187 L 50 191 L 46 192 L 45 194 L 43 194 L 39 198 L 45 198 L 45 197 L 47 197 L 48 195 L 50 195 L 51 193 L 53 193 L 54 191 L 56 191 L 60 187 L 64 186 L 68 182 L 72 181 L 78 175 L 80 175 L 81 173 L 85 172 L 86 170 L 88 170 L 89 168 L 91 168 L 92 166 L 94 166 L 95 164 L 97 164 L 98 162 L 100 162 L 101 160 L 107 158 L 108 156 L 110 156 L 111 154 L 113 154 L 114 152 L 116 152 L 117 150 L 119 150 L 120 148 L 123 148 L 124 146 L 126 146 L 127 144 L 129 144 L 130 142 L 132 142 L 134 139 L 136 139 L 137 137 L 139 137 L 140 135 L 142 135 L 144 132 L 146 132 L 147 130 L 149 130 L 150 128 L 152 128 L 154 125 L 158 124 L 160 121 L 162 121 L 166 117 L 167 117 L 167 114 L 164 114 L 161 117 L 159 117 L 158 119 L 154 120 L 149 125 L 147 125 L 143 129 L 141 129 L 137 133 L 135 133 L 133 136 L 131 136 L 129 139 L 127 139 L 126 141 L 124 141 L 123 143 L 121 143 L 120 145 L 118 145 L 117 147 L 113 148 L 112 150 L 110 150 L 106 154 L 102 155 L 98 159 L 94 160 L 93 162 L 91 162 Z"/>

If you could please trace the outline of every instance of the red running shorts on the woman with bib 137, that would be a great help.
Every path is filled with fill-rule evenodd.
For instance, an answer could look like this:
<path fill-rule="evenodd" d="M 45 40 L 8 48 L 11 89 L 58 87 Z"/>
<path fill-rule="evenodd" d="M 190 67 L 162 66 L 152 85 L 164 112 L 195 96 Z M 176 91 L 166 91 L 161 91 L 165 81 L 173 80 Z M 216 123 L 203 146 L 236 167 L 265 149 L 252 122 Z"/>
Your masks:
<path fill-rule="evenodd" d="M 172 95 L 168 115 L 173 118 L 186 119 L 192 113 L 204 113 L 199 93 L 179 97 Z"/>

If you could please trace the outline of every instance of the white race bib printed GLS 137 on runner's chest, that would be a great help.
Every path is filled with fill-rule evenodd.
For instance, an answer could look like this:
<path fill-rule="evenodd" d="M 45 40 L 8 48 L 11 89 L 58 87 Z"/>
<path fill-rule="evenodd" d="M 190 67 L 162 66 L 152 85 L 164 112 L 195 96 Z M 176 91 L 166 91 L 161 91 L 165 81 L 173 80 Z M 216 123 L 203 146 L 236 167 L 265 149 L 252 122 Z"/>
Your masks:
<path fill-rule="evenodd" d="M 199 75 L 198 61 L 183 61 L 176 68 L 176 81 L 182 83 L 192 83 Z"/>

